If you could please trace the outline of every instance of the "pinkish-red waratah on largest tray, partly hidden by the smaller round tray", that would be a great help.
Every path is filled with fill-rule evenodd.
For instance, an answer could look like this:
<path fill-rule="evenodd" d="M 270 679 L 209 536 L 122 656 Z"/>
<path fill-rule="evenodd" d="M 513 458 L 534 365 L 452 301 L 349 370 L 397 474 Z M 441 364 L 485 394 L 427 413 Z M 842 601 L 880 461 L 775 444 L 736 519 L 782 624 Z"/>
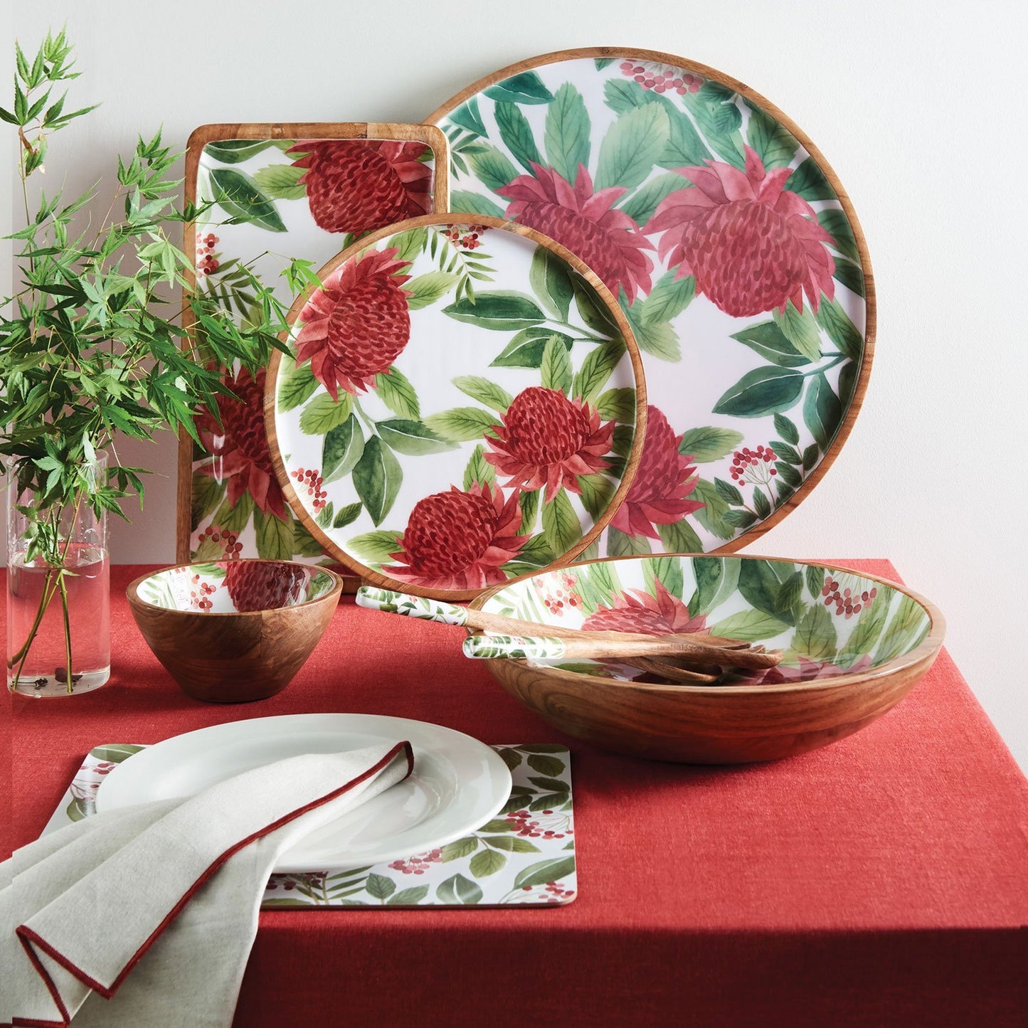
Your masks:
<path fill-rule="evenodd" d="M 653 260 L 642 251 L 653 244 L 627 214 L 614 210 L 626 190 L 610 186 L 593 192 L 583 164 L 574 186 L 552 168 L 535 162 L 531 168 L 535 177 L 519 175 L 497 190 L 512 201 L 507 217 L 567 247 L 615 296 L 624 289 L 630 303 L 639 289 L 649 292 Z"/>

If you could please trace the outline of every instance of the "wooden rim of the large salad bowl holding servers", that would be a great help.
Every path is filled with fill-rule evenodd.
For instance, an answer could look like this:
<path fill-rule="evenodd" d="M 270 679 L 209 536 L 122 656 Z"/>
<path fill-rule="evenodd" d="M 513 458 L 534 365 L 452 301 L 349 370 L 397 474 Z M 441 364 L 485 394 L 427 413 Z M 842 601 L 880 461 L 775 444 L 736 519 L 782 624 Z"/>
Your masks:
<path fill-rule="evenodd" d="M 878 667 L 872 667 L 865 671 L 856 671 L 853 673 L 836 674 L 830 678 L 811 678 L 809 682 L 780 682 L 771 685 L 750 686 L 664 686 L 646 682 L 624 682 L 618 678 L 603 678 L 597 674 L 582 674 L 578 671 L 565 671 L 559 667 L 536 667 L 531 669 L 534 671 L 541 672 L 544 675 L 552 675 L 554 678 L 562 682 L 578 683 L 580 685 L 588 684 L 597 688 L 629 689 L 639 693 L 653 693 L 656 695 L 689 693 L 693 695 L 713 697 L 724 695 L 745 696 L 756 694 L 767 695 L 772 693 L 827 692 L 832 689 L 844 689 L 848 686 L 862 685 L 868 682 L 885 678 L 891 674 L 895 674 L 897 671 L 903 671 L 906 668 L 913 667 L 921 661 L 933 660 L 943 647 L 943 638 L 946 634 L 946 620 L 943 617 L 942 611 L 940 611 L 939 608 L 931 602 L 931 600 L 926 599 L 924 596 L 920 595 L 920 593 L 916 593 L 913 590 L 908 589 L 905 585 L 901 585 L 898 582 L 894 582 L 891 579 L 883 578 L 880 575 L 869 575 L 853 567 L 846 567 L 843 564 L 830 564 L 819 560 L 794 560 L 791 557 L 768 557 L 759 553 L 641 553 L 630 554 L 623 557 L 597 557 L 595 560 L 583 560 L 581 564 L 564 564 L 560 568 L 544 567 L 540 571 L 530 572 L 526 575 L 519 575 L 515 579 L 510 579 L 507 582 L 485 590 L 481 593 L 481 595 L 476 596 L 473 600 L 471 600 L 468 605 L 476 611 L 481 610 L 486 600 L 490 599 L 497 593 L 502 592 L 504 589 L 507 589 L 512 585 L 516 585 L 519 582 L 536 578 L 539 575 L 549 575 L 555 571 L 561 570 L 574 571 L 576 567 L 587 567 L 590 564 L 605 564 L 630 560 L 638 561 L 646 560 L 648 558 L 653 559 L 655 557 L 689 557 L 690 559 L 693 557 L 717 557 L 724 560 L 773 560 L 777 563 L 787 562 L 810 567 L 823 567 L 825 571 L 843 572 L 847 575 L 858 575 L 860 578 L 865 578 L 869 582 L 879 582 L 882 585 L 888 586 L 890 589 L 895 589 L 904 593 L 904 595 L 909 596 L 916 603 L 920 604 L 920 607 L 928 615 L 928 634 L 925 635 L 921 642 L 909 653 L 901 654 L 898 657 L 893 657 L 891 660 L 886 661 L 884 664 L 880 664 Z M 540 626 L 545 627 L 542 623 L 540 623 Z M 527 668 L 529 666 L 526 660 L 513 660 L 509 658 L 488 660 L 486 663 L 489 665 L 490 669 L 493 664 L 513 664 L 523 668 Z"/>

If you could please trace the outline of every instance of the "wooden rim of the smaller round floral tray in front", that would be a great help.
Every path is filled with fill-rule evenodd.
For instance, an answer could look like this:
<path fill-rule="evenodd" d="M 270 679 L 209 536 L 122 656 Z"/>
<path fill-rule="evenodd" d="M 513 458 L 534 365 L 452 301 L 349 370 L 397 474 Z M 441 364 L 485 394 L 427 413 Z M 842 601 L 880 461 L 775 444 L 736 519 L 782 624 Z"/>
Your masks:
<path fill-rule="evenodd" d="M 589 266 L 580 257 L 577 257 L 566 247 L 561 246 L 556 241 L 551 240 L 548 235 L 544 235 L 542 232 L 539 232 L 534 228 L 528 228 L 525 225 L 519 225 L 515 221 L 509 221 L 504 218 L 493 218 L 488 215 L 456 213 L 427 214 L 419 218 L 408 218 L 405 221 L 397 222 L 395 225 L 379 228 L 376 231 L 370 232 L 369 234 L 358 240 L 352 246 L 347 247 L 341 253 L 333 257 L 332 260 L 330 260 L 318 271 L 318 279 L 320 281 L 324 280 L 326 276 L 330 274 L 341 264 L 352 260 L 358 254 L 367 250 L 368 247 L 374 246 L 383 238 L 396 235 L 399 232 L 407 231 L 411 228 L 436 225 L 485 225 L 489 228 L 497 228 L 501 231 L 507 231 L 515 235 L 520 235 L 523 238 L 535 243 L 537 246 L 545 247 L 551 253 L 556 254 L 561 260 L 582 276 L 586 282 L 588 282 L 599 298 L 603 301 L 609 314 L 614 319 L 615 324 L 617 324 L 618 328 L 621 330 L 622 338 L 625 342 L 625 351 L 631 361 L 632 375 L 635 379 L 635 431 L 632 436 L 632 446 L 625 461 L 625 470 L 621 476 L 618 488 L 611 498 L 611 502 L 603 508 L 599 516 L 594 519 L 592 527 L 588 531 L 584 533 L 582 538 L 573 547 L 560 554 L 556 560 L 547 564 L 545 567 L 540 568 L 539 572 L 536 572 L 535 574 L 540 574 L 541 572 L 548 571 L 553 567 L 563 566 L 564 564 L 571 563 L 574 558 L 586 549 L 594 540 L 596 540 L 607 527 L 608 523 L 617 512 L 618 507 L 621 506 L 622 501 L 628 494 L 628 490 L 631 488 L 632 480 L 635 477 L 635 471 L 638 468 L 639 458 L 642 455 L 642 442 L 646 437 L 646 377 L 642 371 L 642 359 L 639 354 L 638 345 L 635 342 L 635 336 L 632 334 L 631 326 L 629 325 L 624 311 L 621 309 L 621 305 L 611 294 L 611 291 L 607 288 L 607 286 L 604 286 L 595 274 L 595 272 L 592 271 L 592 269 L 589 268 Z M 288 343 L 293 324 L 299 317 L 300 311 L 306 306 L 310 297 L 319 289 L 321 289 L 320 282 L 318 285 L 313 284 L 308 286 L 293 302 L 286 319 L 290 326 L 290 331 L 284 332 L 281 337 L 284 343 Z M 279 380 L 279 368 L 281 365 L 282 353 L 281 351 L 276 351 L 274 354 L 271 355 L 271 361 L 268 365 L 267 374 L 264 378 L 264 427 L 265 432 L 267 433 L 268 451 L 271 455 L 271 465 L 274 468 L 276 478 L 278 478 L 279 484 L 282 486 L 283 493 L 286 497 L 286 502 L 292 509 L 293 514 L 296 516 L 297 520 L 302 522 L 310 535 L 318 540 L 325 552 L 333 556 L 339 561 L 339 563 L 351 568 L 365 582 L 372 585 L 382 586 L 388 589 L 398 589 L 401 592 L 409 592 L 415 596 L 427 596 L 431 599 L 446 599 L 451 601 L 473 599 L 481 594 L 484 591 L 483 589 L 433 589 L 428 586 L 415 585 L 411 582 L 404 582 L 400 579 L 391 578 L 382 572 L 376 572 L 374 568 L 368 567 L 367 564 L 362 563 L 355 556 L 346 553 L 345 550 L 341 549 L 336 543 L 325 535 L 322 527 L 310 516 L 309 512 L 296 494 L 296 490 L 293 488 L 280 452 L 274 416 L 276 394 L 278 392 L 277 386 Z M 515 579 L 510 579 L 509 581 L 513 582 Z"/>

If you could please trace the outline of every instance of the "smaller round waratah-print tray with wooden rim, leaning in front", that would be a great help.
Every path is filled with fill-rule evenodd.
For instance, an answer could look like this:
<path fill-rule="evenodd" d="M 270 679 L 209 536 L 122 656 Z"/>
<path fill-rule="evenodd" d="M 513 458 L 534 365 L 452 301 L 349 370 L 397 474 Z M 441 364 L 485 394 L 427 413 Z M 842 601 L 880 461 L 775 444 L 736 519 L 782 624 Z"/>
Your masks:
<path fill-rule="evenodd" d="M 627 493 L 645 390 L 628 321 L 531 228 L 429 215 L 319 272 L 267 374 L 276 474 L 363 578 L 462 599 L 566 561 Z"/>

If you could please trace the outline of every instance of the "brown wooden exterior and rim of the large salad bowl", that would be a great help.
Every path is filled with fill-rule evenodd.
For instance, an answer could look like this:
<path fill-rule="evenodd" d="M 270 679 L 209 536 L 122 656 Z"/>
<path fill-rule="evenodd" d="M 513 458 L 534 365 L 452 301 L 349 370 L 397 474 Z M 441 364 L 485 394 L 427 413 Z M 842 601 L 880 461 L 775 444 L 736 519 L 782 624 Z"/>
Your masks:
<path fill-rule="evenodd" d="M 887 579 L 850 574 L 897 589 L 925 609 L 931 625 L 920 646 L 866 671 L 770 686 L 644 685 L 529 667 L 523 660 L 485 663 L 508 693 L 544 721 L 603 749 L 681 764 L 748 764 L 795 757 L 852 735 L 895 706 L 942 649 L 946 626 L 933 604 Z M 489 590 L 471 605 L 481 607 L 510 584 Z"/>

